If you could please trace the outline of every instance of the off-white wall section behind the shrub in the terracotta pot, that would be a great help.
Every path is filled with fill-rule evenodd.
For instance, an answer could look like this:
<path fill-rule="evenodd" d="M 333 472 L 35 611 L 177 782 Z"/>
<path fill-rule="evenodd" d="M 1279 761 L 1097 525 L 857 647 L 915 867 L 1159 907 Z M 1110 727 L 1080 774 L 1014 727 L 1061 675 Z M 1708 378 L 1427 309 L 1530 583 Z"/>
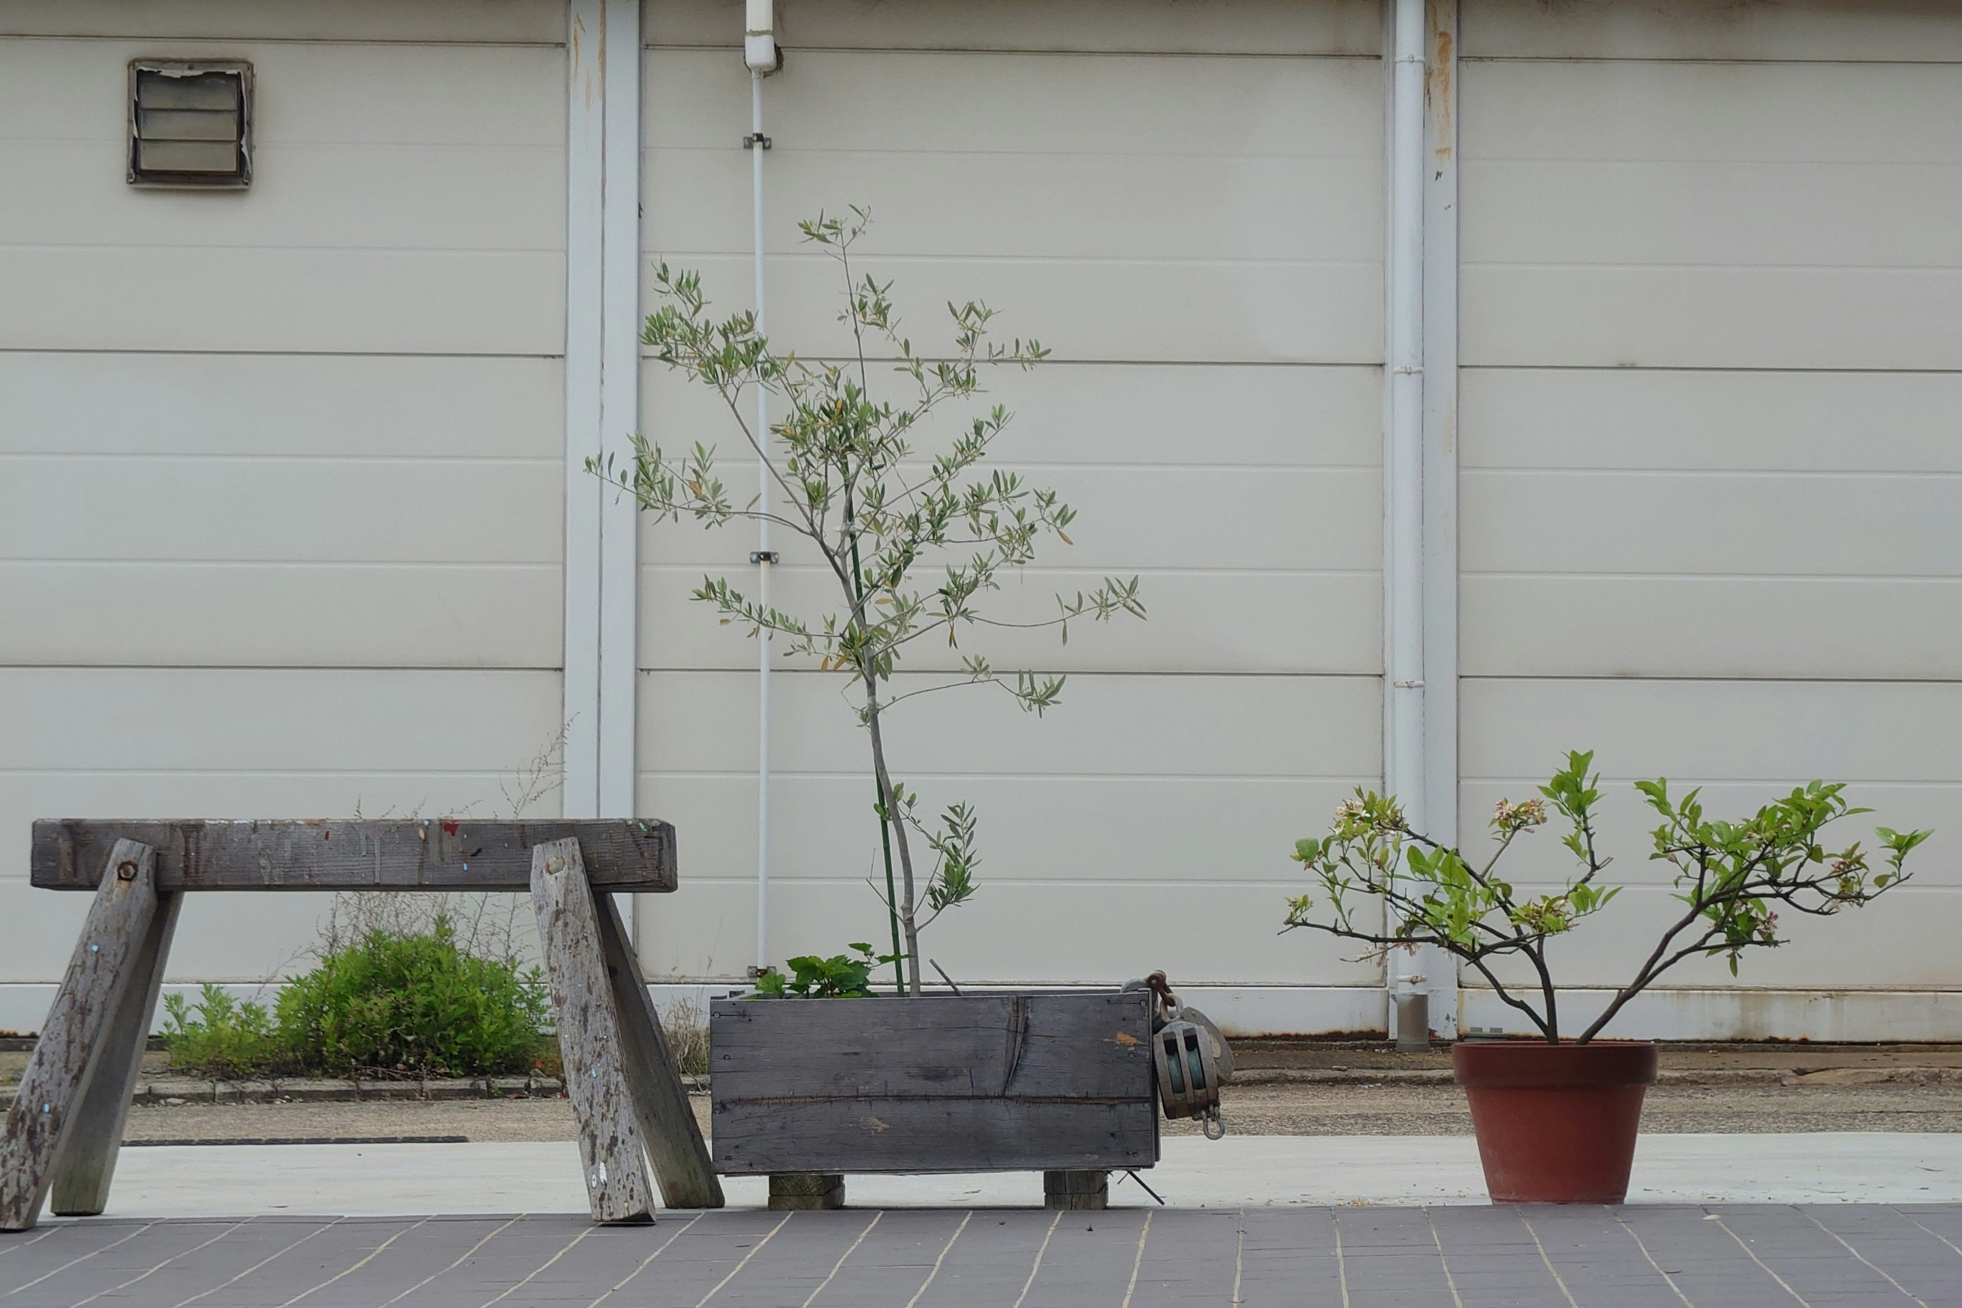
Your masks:
<path fill-rule="evenodd" d="M 1678 908 L 1632 777 L 1740 812 L 1842 779 L 1856 822 L 1938 830 L 1915 884 L 1746 961 L 1783 994 L 1636 1026 L 1956 1018 L 1829 992 L 1962 986 L 1958 55 L 1938 4 L 1462 6 L 1464 839 L 1597 749 L 1634 888 L 1562 963 L 1609 984 Z"/>

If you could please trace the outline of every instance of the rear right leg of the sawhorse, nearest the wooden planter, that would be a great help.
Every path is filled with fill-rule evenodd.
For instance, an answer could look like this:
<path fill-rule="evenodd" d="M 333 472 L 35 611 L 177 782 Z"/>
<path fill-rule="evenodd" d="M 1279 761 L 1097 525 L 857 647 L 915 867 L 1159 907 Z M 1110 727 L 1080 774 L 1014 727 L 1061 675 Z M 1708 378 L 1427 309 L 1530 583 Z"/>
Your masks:
<path fill-rule="evenodd" d="M 626 943 L 626 928 L 610 894 L 596 902 L 606 979 L 612 982 L 614 1010 L 620 1014 L 620 1057 L 628 1096 L 640 1122 L 661 1202 L 669 1208 L 720 1208 L 722 1182 L 716 1179 L 702 1128 L 689 1108 L 681 1069 L 667 1051 L 661 1016 L 653 1010 L 640 963 Z"/>

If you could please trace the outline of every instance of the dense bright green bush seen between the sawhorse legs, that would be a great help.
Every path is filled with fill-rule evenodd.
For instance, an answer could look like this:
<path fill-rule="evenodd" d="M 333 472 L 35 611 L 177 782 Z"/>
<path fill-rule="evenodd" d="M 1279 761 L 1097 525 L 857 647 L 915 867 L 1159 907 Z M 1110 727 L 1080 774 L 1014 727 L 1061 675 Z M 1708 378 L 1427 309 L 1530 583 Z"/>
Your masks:
<path fill-rule="evenodd" d="M 459 949 L 438 916 L 428 931 L 369 930 L 332 949 L 277 1012 L 281 1043 L 306 1071 L 496 1077 L 543 1053 L 551 1002 L 540 969 Z"/>

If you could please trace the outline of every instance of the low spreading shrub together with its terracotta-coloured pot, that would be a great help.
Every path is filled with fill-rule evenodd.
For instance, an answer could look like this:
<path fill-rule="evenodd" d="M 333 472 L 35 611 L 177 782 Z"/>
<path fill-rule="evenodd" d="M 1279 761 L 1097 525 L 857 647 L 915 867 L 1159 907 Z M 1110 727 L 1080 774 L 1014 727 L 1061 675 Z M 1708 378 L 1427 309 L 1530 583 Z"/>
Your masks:
<path fill-rule="evenodd" d="M 1452 1049 L 1497 1202 L 1621 1202 L 1642 1092 L 1656 1079 L 1656 1047 L 1603 1041 L 1601 1030 L 1685 959 L 1725 957 L 1736 975 L 1746 949 L 1781 943 L 1780 908 L 1833 916 L 1891 890 L 1907 879 L 1907 853 L 1931 835 L 1878 828 L 1874 867 L 1858 843 L 1836 853 L 1825 847 L 1831 824 L 1868 812 L 1846 806 L 1842 784 L 1815 780 L 1742 822 L 1721 822 L 1705 816 L 1697 790 L 1674 798 L 1668 780 L 1634 782 L 1662 820 L 1650 859 L 1674 869 L 1683 908 L 1601 1016 L 1564 1037 L 1546 945 L 1617 894 L 1601 880 L 1609 859 L 1595 851 L 1601 792 L 1591 765 L 1593 753 L 1570 753 L 1538 796 L 1501 800 L 1491 816 L 1493 849 L 1477 861 L 1413 831 L 1395 798 L 1368 790 L 1336 810 L 1328 835 L 1295 845 L 1293 857 L 1320 884 L 1326 912 L 1317 916 L 1315 898 L 1303 894 L 1289 902 L 1283 930 L 1356 939 L 1377 957 L 1434 945 L 1479 973 L 1538 1030 L 1536 1041 L 1458 1041 Z M 1554 814 L 1570 828 L 1562 843 L 1577 869 L 1558 890 L 1523 892 L 1499 863 Z M 1532 977 L 1524 986 L 1501 977 L 1515 961 Z"/>

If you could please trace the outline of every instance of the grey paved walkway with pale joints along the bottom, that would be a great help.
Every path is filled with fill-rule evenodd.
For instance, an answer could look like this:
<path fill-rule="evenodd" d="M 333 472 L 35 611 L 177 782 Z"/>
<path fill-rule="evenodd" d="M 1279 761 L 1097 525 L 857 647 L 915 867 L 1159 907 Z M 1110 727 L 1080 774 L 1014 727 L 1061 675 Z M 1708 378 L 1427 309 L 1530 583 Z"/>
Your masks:
<path fill-rule="evenodd" d="M 104 1218 L 0 1237 L 0 1304 L 1942 1308 L 1962 1304 L 1962 1208 Z"/>

